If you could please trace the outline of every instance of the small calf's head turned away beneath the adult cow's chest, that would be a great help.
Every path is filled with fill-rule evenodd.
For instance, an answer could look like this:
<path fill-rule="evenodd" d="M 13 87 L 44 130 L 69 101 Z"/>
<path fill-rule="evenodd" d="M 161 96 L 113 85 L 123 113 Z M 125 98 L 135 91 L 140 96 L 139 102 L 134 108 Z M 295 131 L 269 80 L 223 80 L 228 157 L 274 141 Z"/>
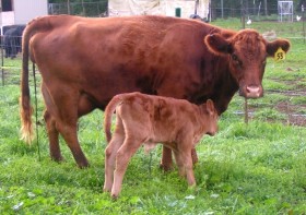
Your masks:
<path fill-rule="evenodd" d="M 217 111 L 211 99 L 208 99 L 203 107 L 208 116 L 205 119 L 207 134 L 214 135 L 217 132 Z"/>

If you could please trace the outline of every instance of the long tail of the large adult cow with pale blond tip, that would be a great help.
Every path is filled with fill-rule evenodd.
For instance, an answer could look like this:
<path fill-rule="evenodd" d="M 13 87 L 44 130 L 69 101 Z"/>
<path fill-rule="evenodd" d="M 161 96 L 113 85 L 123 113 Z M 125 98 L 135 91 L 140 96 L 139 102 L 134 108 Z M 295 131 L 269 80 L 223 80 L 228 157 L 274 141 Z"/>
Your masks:
<path fill-rule="evenodd" d="M 26 143 L 31 143 L 34 139 L 32 126 L 31 96 L 28 87 L 28 59 L 30 59 L 30 39 L 37 32 L 46 31 L 50 27 L 47 19 L 38 17 L 27 24 L 23 32 L 22 38 L 22 75 L 21 75 L 21 97 L 20 97 L 20 115 L 21 115 L 21 139 Z M 32 59 L 34 61 L 34 59 Z"/>

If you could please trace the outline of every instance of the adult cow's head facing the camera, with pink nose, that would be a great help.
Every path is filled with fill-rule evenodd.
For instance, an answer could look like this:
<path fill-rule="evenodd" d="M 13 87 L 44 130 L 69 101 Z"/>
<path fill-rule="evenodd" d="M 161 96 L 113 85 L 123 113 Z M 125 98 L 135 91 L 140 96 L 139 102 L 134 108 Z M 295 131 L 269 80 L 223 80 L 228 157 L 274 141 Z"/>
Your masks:
<path fill-rule="evenodd" d="M 289 40 L 267 41 L 254 29 L 214 33 L 205 36 L 204 44 L 211 52 L 227 56 L 231 73 L 239 85 L 239 95 L 246 98 L 263 95 L 261 82 L 267 57 L 273 57 L 280 47 L 285 52 L 290 48 Z"/>

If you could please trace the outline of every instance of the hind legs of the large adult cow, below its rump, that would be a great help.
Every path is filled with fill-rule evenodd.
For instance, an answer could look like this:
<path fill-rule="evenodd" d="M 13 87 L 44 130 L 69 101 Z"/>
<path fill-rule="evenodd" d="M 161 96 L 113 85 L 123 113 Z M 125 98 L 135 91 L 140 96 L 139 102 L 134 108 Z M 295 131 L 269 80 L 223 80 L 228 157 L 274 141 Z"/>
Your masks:
<path fill-rule="evenodd" d="M 51 85 L 49 88 L 43 83 L 43 94 L 48 114 L 51 116 L 50 122 L 50 150 L 55 156 L 60 155 L 59 144 L 52 139 L 57 139 L 56 130 L 62 135 L 80 168 L 87 167 L 89 162 L 83 154 L 76 134 L 78 109 L 80 94 L 66 86 L 66 84 Z"/>

